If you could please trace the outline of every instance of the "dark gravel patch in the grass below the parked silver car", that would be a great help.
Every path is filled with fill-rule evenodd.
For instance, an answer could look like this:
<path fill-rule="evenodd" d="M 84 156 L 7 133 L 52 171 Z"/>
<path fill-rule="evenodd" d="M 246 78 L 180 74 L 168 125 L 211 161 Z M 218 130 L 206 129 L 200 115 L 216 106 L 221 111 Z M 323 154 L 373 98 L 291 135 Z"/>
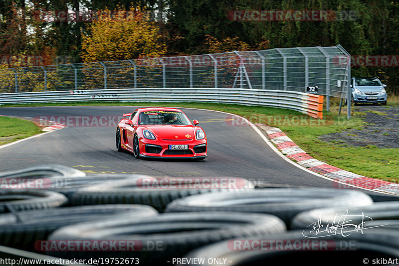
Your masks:
<path fill-rule="evenodd" d="M 362 130 L 329 133 L 319 138 L 345 146 L 399 148 L 399 107 L 363 105 L 357 106 L 355 112 L 367 123 Z"/>

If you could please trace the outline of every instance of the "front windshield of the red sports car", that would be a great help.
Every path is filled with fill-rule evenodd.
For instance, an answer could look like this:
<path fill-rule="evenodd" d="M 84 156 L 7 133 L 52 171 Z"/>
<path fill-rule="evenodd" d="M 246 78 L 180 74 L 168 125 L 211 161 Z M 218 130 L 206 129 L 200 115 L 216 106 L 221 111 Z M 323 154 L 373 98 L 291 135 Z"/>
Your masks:
<path fill-rule="evenodd" d="M 140 113 L 139 125 L 191 125 L 191 123 L 183 112 L 156 110 Z"/>

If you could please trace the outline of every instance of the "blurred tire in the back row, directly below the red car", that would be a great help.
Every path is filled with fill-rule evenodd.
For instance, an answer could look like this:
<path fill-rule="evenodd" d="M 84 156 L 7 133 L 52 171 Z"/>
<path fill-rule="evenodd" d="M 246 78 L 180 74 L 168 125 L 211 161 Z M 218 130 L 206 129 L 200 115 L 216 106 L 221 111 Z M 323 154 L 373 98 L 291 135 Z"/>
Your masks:
<path fill-rule="evenodd" d="M 146 204 L 154 207 L 159 212 L 163 212 L 166 206 L 173 200 L 196 194 L 209 194 L 220 191 L 229 191 L 232 193 L 237 190 L 254 190 L 254 185 L 243 178 L 229 177 L 209 177 L 209 178 L 153 178 L 145 177 L 147 181 L 143 184 L 144 178 L 126 179 L 114 182 L 102 183 L 81 189 L 73 194 L 71 205 L 95 205 L 95 204 Z M 195 188 L 194 181 L 200 179 L 201 182 Z M 206 181 L 206 179 L 208 181 Z M 236 188 L 228 188 L 228 185 L 221 188 L 219 182 L 215 188 L 205 189 L 211 186 L 214 180 L 231 180 L 239 184 Z M 229 179 L 229 180 L 228 180 Z M 182 180 L 182 184 L 178 181 Z M 166 182 L 163 182 L 166 181 Z M 204 182 L 202 182 L 204 181 Z M 178 188 L 176 187 L 187 187 Z"/>

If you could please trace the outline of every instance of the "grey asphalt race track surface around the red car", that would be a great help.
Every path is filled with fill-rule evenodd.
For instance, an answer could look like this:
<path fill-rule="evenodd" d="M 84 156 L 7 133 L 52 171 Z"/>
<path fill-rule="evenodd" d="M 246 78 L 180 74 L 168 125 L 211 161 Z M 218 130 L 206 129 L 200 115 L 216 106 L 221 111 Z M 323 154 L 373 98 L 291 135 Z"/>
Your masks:
<path fill-rule="evenodd" d="M 88 124 L 34 137 L 0 149 L 1 171 L 57 163 L 87 174 L 137 173 L 151 176 L 234 176 L 273 184 L 333 187 L 333 182 L 315 176 L 277 156 L 251 127 L 231 126 L 231 116 L 204 110 L 182 110 L 197 119 L 208 139 L 208 157 L 202 161 L 135 159 L 115 150 L 116 125 L 92 123 L 92 116 L 113 117 L 131 113 L 136 107 L 71 106 L 0 108 L 1 115 L 18 117 L 89 117 Z M 73 119 L 72 119 L 73 120 Z M 76 119 L 75 119 L 76 121 Z M 114 119 L 117 124 L 117 119 Z M 103 125 L 105 122 L 102 121 Z M 110 126 L 109 126 L 110 125 Z"/>

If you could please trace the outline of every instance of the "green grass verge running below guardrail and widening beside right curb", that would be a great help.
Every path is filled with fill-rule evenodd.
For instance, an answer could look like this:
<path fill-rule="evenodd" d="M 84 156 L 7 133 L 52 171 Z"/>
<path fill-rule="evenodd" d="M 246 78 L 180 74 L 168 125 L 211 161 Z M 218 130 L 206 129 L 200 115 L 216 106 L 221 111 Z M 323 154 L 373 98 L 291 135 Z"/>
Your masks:
<path fill-rule="evenodd" d="M 366 125 L 362 120 L 365 113 L 356 111 L 349 121 L 346 119 L 345 113 L 338 116 L 335 110 L 333 110 L 333 112 L 324 112 L 324 120 L 321 121 L 288 109 L 213 103 L 77 102 L 68 104 L 3 105 L 1 107 L 65 105 L 174 106 L 233 113 L 247 118 L 252 123 L 266 123 L 270 126 L 280 128 L 311 156 L 328 164 L 367 177 L 390 182 L 399 181 L 398 148 L 378 148 L 375 145 L 368 145 L 367 147 L 348 147 L 340 139 L 332 142 L 324 142 L 318 138 L 318 136 L 323 134 L 349 131 L 351 129 L 362 129 L 362 127 Z M 126 112 L 128 111 L 127 109 Z"/>

